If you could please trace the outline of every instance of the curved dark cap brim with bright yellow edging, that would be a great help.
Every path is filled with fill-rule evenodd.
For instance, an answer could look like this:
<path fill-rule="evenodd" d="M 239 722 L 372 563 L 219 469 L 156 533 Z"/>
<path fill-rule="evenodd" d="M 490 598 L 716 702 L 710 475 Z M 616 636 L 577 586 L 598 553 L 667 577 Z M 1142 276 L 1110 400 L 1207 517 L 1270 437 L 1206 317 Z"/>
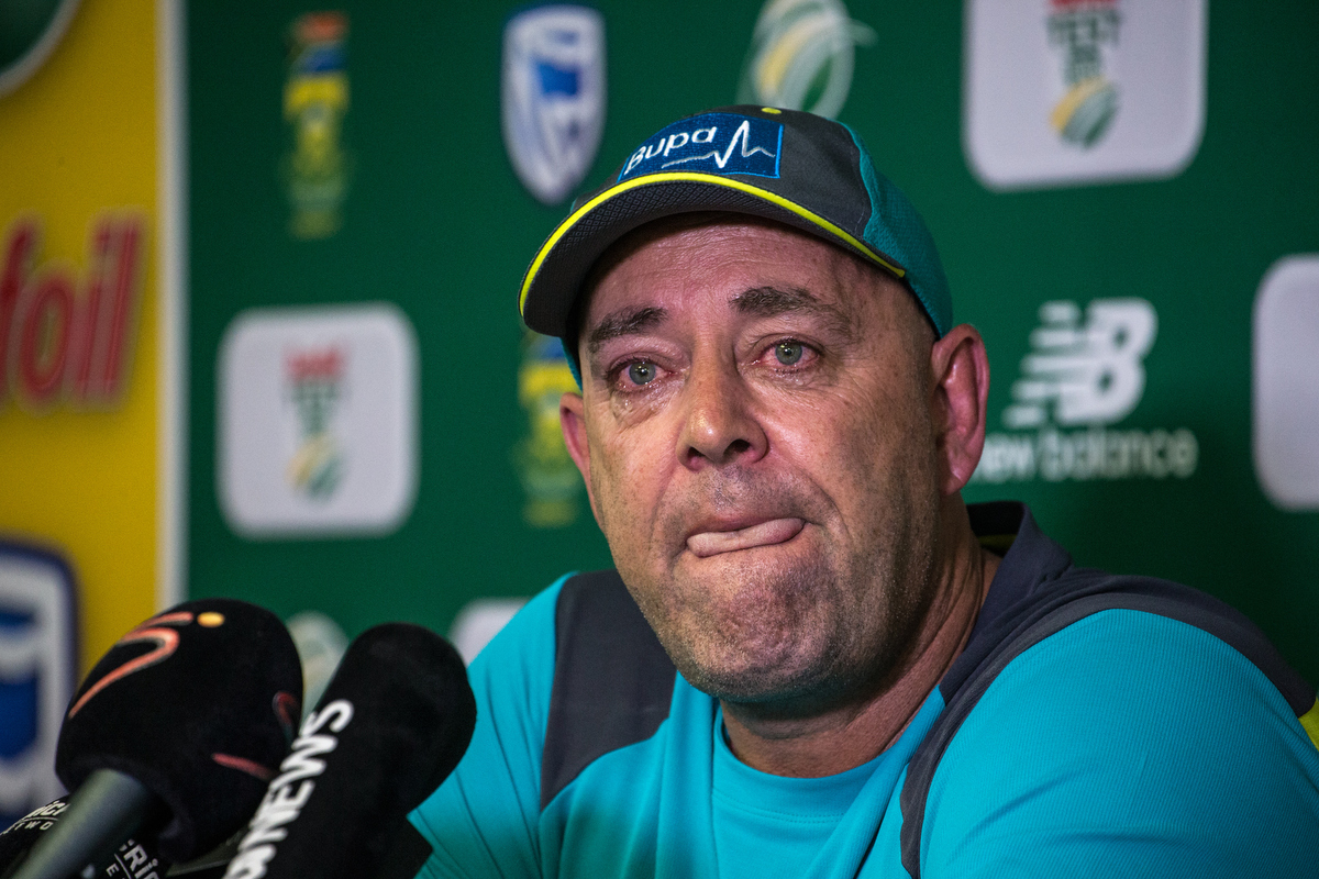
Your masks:
<path fill-rule="evenodd" d="M 897 261 L 795 202 L 745 179 L 674 171 L 624 181 L 590 199 L 550 233 L 532 260 L 518 298 L 522 320 L 547 336 L 568 335 L 582 282 L 611 244 L 652 220 L 694 211 L 729 211 L 776 220 L 838 244 L 896 278 Z"/>

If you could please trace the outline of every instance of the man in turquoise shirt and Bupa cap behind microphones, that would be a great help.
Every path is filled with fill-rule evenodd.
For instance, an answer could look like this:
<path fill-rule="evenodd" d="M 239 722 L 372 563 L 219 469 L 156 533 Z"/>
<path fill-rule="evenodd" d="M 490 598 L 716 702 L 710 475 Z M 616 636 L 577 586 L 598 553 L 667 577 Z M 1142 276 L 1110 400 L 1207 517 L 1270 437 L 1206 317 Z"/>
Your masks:
<path fill-rule="evenodd" d="M 561 224 L 522 314 L 617 573 L 472 666 L 430 876 L 1306 875 L 1319 705 L 1184 586 L 968 510 L 988 361 L 836 123 L 674 123 Z M 1307 731 L 1308 730 L 1308 731 Z"/>

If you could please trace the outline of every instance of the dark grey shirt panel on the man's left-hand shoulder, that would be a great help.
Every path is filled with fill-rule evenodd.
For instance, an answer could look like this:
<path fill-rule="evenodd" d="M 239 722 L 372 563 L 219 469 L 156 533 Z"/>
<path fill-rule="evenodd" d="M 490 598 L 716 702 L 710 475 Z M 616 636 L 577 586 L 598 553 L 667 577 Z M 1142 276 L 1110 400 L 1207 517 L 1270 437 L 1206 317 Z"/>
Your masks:
<path fill-rule="evenodd" d="M 598 758 L 654 735 L 669 717 L 674 676 L 617 571 L 570 577 L 554 614 L 541 808 Z"/>

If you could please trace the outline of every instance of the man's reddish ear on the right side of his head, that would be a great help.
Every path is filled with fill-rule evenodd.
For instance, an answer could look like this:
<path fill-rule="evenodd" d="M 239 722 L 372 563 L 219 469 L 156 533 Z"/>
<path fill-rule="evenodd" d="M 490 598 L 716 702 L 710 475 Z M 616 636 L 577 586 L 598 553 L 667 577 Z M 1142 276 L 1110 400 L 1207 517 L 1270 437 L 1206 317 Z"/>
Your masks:
<path fill-rule="evenodd" d="M 952 494 L 971 480 L 985 445 L 989 356 L 980 332 L 971 324 L 950 329 L 934 343 L 930 370 L 940 488 Z"/>

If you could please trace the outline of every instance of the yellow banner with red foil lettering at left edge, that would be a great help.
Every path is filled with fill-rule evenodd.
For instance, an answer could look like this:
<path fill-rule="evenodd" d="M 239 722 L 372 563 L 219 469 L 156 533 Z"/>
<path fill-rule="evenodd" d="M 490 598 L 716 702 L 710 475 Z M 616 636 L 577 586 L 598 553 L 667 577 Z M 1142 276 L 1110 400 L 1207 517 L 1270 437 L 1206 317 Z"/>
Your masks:
<path fill-rule="evenodd" d="M 156 602 L 156 40 L 82 3 L 0 96 L 0 536 L 70 560 L 83 669 Z"/>

